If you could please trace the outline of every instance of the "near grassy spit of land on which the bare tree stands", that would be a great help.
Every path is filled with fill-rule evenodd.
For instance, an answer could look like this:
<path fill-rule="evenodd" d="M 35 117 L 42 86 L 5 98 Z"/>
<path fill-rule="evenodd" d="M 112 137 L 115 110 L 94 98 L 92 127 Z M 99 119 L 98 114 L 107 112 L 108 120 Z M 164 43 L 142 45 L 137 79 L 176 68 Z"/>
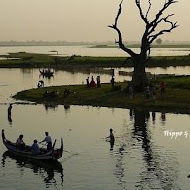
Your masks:
<path fill-rule="evenodd" d="M 160 80 L 160 79 L 159 79 Z M 161 96 L 159 80 L 152 81 L 157 87 L 156 99 L 146 98 L 143 93 L 135 94 L 132 99 L 126 91 L 127 83 L 102 84 L 101 88 L 87 88 L 86 85 L 69 85 L 38 88 L 18 92 L 14 98 L 36 103 L 91 105 L 117 108 L 140 108 L 149 111 L 190 113 L 190 77 L 165 78 L 167 91 Z M 69 89 L 68 96 L 64 96 Z M 56 97 L 44 97 L 44 92 L 57 91 Z"/>

